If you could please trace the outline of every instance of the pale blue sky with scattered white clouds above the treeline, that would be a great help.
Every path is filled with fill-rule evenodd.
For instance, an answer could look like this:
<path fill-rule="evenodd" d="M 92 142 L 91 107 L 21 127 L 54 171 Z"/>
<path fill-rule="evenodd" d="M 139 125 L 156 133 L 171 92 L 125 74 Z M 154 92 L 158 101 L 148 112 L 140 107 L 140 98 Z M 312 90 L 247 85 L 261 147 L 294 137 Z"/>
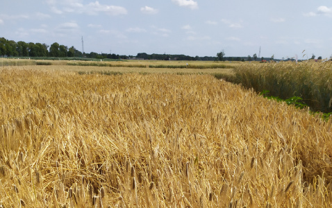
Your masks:
<path fill-rule="evenodd" d="M 332 2 L 263 0 L 13 0 L 0 37 L 81 51 L 329 58 Z M 305 50 L 305 51 L 304 51 Z M 302 53 L 304 51 L 304 53 Z"/>

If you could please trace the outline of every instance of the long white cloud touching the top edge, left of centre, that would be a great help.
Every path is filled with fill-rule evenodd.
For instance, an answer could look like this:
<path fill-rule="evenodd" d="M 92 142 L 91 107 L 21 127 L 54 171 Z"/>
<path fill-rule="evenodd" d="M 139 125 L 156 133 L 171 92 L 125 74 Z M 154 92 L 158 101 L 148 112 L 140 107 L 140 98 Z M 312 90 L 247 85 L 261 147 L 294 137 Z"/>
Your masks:
<path fill-rule="evenodd" d="M 61 15 L 64 12 L 98 15 L 99 12 L 104 12 L 107 15 L 126 15 L 127 10 L 122 6 L 103 5 L 99 1 L 94 1 L 88 4 L 83 4 L 82 0 L 60 0 L 47 1 L 52 12 Z"/>

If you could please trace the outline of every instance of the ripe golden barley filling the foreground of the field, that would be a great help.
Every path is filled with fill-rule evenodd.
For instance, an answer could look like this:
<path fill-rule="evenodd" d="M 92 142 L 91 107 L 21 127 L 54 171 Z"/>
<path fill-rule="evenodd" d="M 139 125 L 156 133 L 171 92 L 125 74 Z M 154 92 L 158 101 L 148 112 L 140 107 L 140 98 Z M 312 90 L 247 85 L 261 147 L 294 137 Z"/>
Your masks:
<path fill-rule="evenodd" d="M 2 207 L 331 207 L 331 119 L 208 74 L 0 68 Z"/>

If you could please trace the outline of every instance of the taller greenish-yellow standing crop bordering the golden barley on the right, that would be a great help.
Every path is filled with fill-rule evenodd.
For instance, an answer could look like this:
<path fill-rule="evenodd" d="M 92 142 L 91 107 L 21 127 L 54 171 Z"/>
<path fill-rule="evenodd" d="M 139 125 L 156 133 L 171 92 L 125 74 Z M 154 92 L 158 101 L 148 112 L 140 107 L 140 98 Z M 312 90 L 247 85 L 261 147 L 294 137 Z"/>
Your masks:
<path fill-rule="evenodd" d="M 235 67 L 235 83 L 271 96 L 303 98 L 310 110 L 332 112 L 331 62 L 242 64 Z"/>

